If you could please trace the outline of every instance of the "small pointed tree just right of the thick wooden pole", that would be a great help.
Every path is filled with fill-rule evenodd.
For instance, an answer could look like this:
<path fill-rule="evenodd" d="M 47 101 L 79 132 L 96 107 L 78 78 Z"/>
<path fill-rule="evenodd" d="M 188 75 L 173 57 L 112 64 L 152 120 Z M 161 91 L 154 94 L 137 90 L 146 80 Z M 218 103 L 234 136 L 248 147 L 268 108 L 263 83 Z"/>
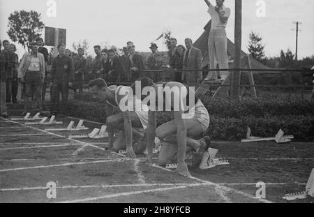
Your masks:
<path fill-rule="evenodd" d="M 248 52 L 250 52 L 254 59 L 262 61 L 262 59 L 265 57 L 265 46 L 262 45 L 262 37 L 260 37 L 258 33 L 254 33 L 252 31 L 249 38 L 250 40 L 248 42 Z"/>

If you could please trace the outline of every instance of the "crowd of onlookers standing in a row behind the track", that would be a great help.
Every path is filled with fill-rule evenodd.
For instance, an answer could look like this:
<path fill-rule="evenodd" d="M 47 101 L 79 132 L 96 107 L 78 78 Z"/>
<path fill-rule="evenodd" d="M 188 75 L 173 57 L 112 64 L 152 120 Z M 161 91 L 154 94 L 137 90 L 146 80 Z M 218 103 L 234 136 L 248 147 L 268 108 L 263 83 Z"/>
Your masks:
<path fill-rule="evenodd" d="M 36 101 L 37 110 L 43 110 L 46 89 L 50 87 L 51 114 L 64 114 L 68 101 L 68 91 L 74 89 L 82 92 L 84 81 L 103 78 L 109 83 L 134 82 L 140 77 L 150 77 L 154 82 L 177 81 L 188 85 L 202 81 L 202 54 L 193 47 L 192 40 L 186 38 L 184 45 L 177 45 L 171 38 L 167 60 L 158 46 L 151 43 L 151 55 L 147 60 L 136 52 L 133 42 L 128 41 L 123 47 L 122 55 L 117 47 L 102 49 L 94 46 L 96 57 L 90 66 L 84 50 L 79 47 L 77 53 L 66 49 L 63 44 L 57 47 L 57 56 L 44 47 L 43 38 L 29 43 L 20 63 L 14 44 L 8 40 L 1 43 L 1 115 L 7 117 L 6 103 L 24 101 L 24 114 Z M 1 46 L 0 45 L 0 46 Z M 159 70 L 159 71 L 151 71 Z M 175 71 L 164 71 L 175 70 Z M 190 70 L 190 71 L 188 71 Z M 61 107 L 59 108 L 59 95 Z"/>

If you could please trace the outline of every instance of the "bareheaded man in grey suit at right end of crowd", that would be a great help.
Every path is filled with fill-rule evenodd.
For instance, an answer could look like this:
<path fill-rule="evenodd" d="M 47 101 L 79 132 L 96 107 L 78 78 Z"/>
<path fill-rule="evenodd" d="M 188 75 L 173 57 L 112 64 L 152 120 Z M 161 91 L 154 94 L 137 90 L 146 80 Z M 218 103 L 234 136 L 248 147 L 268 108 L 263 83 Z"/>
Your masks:
<path fill-rule="evenodd" d="M 195 86 L 202 82 L 202 52 L 193 47 L 192 39 L 186 38 L 185 43 L 186 51 L 184 52 L 182 81 L 188 86 Z"/>

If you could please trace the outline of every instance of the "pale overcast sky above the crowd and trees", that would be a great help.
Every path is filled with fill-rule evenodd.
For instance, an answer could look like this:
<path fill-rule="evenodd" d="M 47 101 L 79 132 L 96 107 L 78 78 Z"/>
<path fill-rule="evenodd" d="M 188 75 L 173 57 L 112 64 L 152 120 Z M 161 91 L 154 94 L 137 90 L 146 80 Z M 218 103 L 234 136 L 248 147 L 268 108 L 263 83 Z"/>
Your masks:
<path fill-rule="evenodd" d="M 6 33 L 8 16 L 14 10 L 36 10 L 47 27 L 67 29 L 67 47 L 87 39 L 90 45 L 123 47 L 132 40 L 136 50 L 147 52 L 151 41 L 165 29 L 184 44 L 202 34 L 210 19 L 204 0 L 56 0 L 57 17 L 47 17 L 48 0 L 0 0 L 1 39 Z M 243 0 L 242 49 L 246 52 L 248 34 L 260 33 L 267 56 L 278 56 L 281 50 L 295 52 L 295 24 L 301 21 L 298 56 L 314 54 L 314 0 L 264 0 L 266 16 L 257 17 L 257 0 Z M 211 0 L 215 3 L 214 0 Z M 225 0 L 231 8 L 227 37 L 234 41 L 234 0 Z M 159 50 L 166 50 L 162 40 Z"/>

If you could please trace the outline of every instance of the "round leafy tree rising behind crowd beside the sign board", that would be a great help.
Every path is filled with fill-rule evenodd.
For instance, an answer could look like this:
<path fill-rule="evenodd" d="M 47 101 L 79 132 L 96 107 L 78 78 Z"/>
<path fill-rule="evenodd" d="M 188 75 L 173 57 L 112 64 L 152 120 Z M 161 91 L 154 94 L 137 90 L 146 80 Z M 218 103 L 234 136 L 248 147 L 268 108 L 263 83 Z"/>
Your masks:
<path fill-rule="evenodd" d="M 33 10 L 15 10 L 8 17 L 8 36 L 25 48 L 29 42 L 41 36 L 40 31 L 44 28 L 44 24 L 40 18 L 40 13 Z"/>

